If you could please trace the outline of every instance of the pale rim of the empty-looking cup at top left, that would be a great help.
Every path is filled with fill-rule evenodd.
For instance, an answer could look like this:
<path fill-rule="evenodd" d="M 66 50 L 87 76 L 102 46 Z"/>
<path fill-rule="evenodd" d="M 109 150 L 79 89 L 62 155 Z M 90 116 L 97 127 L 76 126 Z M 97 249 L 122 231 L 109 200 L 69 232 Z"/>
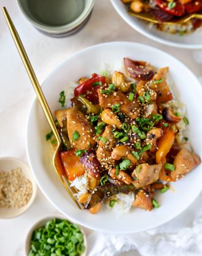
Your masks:
<path fill-rule="evenodd" d="M 55 27 L 54 26 L 51 27 L 49 25 L 42 25 L 41 23 L 34 21 L 33 19 L 30 18 L 30 16 L 26 14 L 20 0 L 17 0 L 17 2 L 18 2 L 18 7 L 22 11 L 22 13 L 25 15 L 26 19 L 28 19 L 34 25 L 34 27 L 46 33 L 62 34 L 62 33 L 73 30 L 74 28 L 78 27 L 81 23 L 83 23 L 84 20 L 86 20 L 86 18 L 91 13 L 92 8 L 94 7 L 95 0 L 87 1 L 87 4 L 84 7 L 83 12 L 79 15 L 79 17 L 76 20 L 73 20 L 73 22 L 70 22 L 67 25 L 55 26 Z"/>

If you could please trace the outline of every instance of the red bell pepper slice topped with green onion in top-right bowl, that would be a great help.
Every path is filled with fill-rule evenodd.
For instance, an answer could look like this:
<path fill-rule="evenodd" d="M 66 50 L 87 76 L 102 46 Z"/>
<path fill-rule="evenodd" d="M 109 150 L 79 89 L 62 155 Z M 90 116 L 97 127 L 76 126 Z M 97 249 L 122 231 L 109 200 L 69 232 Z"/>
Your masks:
<path fill-rule="evenodd" d="M 182 16 L 185 14 L 185 7 L 179 1 L 174 1 L 176 6 L 173 8 L 169 8 L 169 2 L 164 0 L 155 0 L 156 4 L 164 10 L 164 12 L 168 12 L 168 14 L 172 14 L 174 16 Z"/>

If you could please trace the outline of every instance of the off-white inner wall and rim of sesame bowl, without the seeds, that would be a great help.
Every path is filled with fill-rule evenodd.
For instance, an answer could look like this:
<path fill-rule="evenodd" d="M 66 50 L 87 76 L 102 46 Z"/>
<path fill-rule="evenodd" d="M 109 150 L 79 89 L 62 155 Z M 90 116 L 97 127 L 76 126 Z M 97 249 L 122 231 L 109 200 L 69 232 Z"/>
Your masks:
<path fill-rule="evenodd" d="M 24 162 L 22 162 L 19 159 L 15 159 L 13 157 L 2 157 L 0 158 L 0 171 L 11 171 L 16 168 L 21 168 L 23 174 L 25 175 L 28 180 L 31 181 L 32 185 L 32 195 L 31 198 L 28 202 L 28 204 L 24 205 L 23 207 L 20 207 L 18 209 L 15 208 L 1 208 L 0 207 L 0 218 L 14 218 L 22 213 L 26 212 L 30 208 L 30 206 L 33 204 L 34 199 L 36 197 L 36 191 L 37 191 L 37 186 L 36 182 L 34 181 L 33 174 L 31 173 L 30 167 L 26 165 Z"/>

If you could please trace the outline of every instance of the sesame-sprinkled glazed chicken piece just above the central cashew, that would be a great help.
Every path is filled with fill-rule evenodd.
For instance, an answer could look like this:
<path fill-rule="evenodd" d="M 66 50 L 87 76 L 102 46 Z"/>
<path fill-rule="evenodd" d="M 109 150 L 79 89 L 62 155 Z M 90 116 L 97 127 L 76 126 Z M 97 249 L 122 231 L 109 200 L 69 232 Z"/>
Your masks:
<path fill-rule="evenodd" d="M 100 107 L 104 109 L 110 109 L 114 104 L 119 104 L 121 112 L 131 117 L 132 119 L 137 118 L 140 112 L 140 105 L 137 101 L 129 101 L 125 94 L 121 91 L 114 91 L 110 94 L 102 94 L 100 89 L 97 90 L 99 95 Z"/>

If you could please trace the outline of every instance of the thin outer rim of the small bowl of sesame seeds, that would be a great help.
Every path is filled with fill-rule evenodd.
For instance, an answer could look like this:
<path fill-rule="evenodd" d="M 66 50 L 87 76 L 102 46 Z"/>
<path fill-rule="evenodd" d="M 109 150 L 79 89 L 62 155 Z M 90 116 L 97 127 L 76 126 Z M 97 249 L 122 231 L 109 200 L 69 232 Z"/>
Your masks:
<path fill-rule="evenodd" d="M 33 202 L 34 202 L 34 200 L 35 200 L 35 198 L 36 198 L 38 186 L 37 186 L 37 183 L 36 183 L 36 180 L 35 180 L 35 176 L 34 176 L 34 174 L 33 174 L 33 171 L 31 170 L 31 167 L 30 167 L 28 164 L 26 164 L 26 163 L 23 162 L 22 160 L 17 159 L 17 158 L 15 158 L 15 157 L 0 157 L 0 162 L 1 162 L 1 160 L 9 160 L 9 161 L 11 160 L 11 161 L 23 163 L 23 165 L 25 165 L 26 168 L 28 168 L 28 169 L 30 170 L 31 175 L 33 176 L 33 179 L 30 181 L 30 182 L 31 182 L 31 185 L 32 185 L 32 188 L 33 188 L 32 194 L 31 194 L 30 200 L 29 200 L 28 203 L 26 204 L 26 205 L 28 205 L 28 204 L 30 204 L 30 205 L 28 205 L 28 207 L 27 207 L 23 212 L 20 212 L 20 213 L 18 213 L 18 214 L 15 215 L 15 216 L 12 216 L 12 217 L 9 217 L 9 218 L 0 218 L 0 220 L 9 220 L 9 219 L 12 219 L 12 218 L 17 218 L 17 217 L 19 217 L 20 215 L 23 215 L 28 209 L 30 209 L 31 205 L 33 205 Z M 24 206 L 26 206 L 26 205 L 24 205 Z M 20 208 L 19 208 L 19 209 L 20 209 Z M 17 209 L 17 210 L 18 210 L 18 209 Z"/>

